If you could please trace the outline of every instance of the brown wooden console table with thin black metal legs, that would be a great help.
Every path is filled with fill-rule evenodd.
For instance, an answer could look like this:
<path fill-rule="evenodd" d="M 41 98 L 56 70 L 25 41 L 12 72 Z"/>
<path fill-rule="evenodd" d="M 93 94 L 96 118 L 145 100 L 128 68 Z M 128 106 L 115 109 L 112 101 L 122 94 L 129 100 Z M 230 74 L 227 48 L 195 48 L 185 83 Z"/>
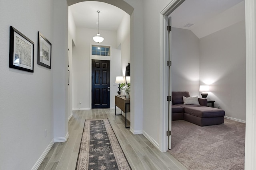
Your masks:
<path fill-rule="evenodd" d="M 121 109 L 121 114 L 116 114 L 116 106 Z M 126 99 L 125 97 L 115 96 L 115 115 L 122 115 L 122 111 L 125 113 L 125 128 L 130 126 L 126 126 L 126 113 L 130 112 L 130 99 Z"/>

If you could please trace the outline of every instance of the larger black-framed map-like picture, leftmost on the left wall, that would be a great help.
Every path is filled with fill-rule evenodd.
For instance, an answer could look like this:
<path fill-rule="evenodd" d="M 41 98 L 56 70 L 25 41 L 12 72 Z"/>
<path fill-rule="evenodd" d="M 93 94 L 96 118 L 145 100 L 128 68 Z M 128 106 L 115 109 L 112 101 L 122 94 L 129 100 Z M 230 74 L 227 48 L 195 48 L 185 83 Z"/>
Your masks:
<path fill-rule="evenodd" d="M 9 67 L 34 72 L 34 42 L 10 26 Z"/>

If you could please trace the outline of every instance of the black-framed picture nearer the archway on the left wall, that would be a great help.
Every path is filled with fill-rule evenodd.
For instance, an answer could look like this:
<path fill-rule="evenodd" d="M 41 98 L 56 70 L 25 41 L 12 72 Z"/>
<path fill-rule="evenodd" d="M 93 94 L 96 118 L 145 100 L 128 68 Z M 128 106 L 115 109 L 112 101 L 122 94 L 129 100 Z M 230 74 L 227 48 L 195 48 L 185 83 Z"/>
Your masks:
<path fill-rule="evenodd" d="M 41 66 L 51 69 L 52 64 L 52 44 L 42 33 L 38 31 L 38 61 Z"/>

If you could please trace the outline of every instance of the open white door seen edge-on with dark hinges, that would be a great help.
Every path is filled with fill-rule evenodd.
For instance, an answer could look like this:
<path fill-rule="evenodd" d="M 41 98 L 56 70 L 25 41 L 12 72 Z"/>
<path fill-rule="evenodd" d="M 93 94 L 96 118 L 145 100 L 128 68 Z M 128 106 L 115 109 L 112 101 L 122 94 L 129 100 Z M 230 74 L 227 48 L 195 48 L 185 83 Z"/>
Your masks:
<path fill-rule="evenodd" d="M 172 96 L 172 78 L 171 78 L 171 61 L 172 61 L 172 31 L 171 31 L 171 26 L 172 26 L 172 18 L 168 18 L 168 26 L 167 26 L 167 31 L 168 31 L 168 59 L 167 59 L 167 69 L 168 69 L 168 96 Z M 168 98 L 168 149 L 172 148 L 172 101 L 171 97 Z"/>

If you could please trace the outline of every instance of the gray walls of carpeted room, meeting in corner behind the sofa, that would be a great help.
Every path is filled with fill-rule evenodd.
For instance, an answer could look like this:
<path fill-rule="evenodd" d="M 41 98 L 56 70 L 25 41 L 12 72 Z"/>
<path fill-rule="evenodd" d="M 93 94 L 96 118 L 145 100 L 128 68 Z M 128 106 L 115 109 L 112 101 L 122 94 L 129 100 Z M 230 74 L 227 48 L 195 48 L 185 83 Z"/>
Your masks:
<path fill-rule="evenodd" d="M 199 85 L 210 85 L 207 98 L 226 116 L 245 122 L 245 22 L 198 39 L 186 29 L 172 31 L 172 91 L 199 96 Z"/>

